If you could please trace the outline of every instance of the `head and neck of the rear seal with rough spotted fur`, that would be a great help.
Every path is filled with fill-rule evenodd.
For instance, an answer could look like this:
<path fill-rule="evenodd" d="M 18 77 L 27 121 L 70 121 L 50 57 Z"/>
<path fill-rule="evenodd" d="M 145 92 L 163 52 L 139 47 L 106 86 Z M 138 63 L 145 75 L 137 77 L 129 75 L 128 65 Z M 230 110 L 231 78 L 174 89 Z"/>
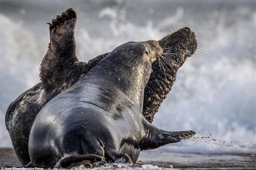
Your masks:
<path fill-rule="evenodd" d="M 160 57 L 161 62 L 164 63 L 161 66 L 162 69 L 159 66 L 159 59 L 152 63 L 154 71 L 145 87 L 143 101 L 143 115 L 150 123 L 153 122 L 155 113 L 171 91 L 178 69 L 197 48 L 196 35 L 188 27 L 165 36 L 158 43 L 164 49 L 165 54 L 162 56 L 172 62 Z"/>

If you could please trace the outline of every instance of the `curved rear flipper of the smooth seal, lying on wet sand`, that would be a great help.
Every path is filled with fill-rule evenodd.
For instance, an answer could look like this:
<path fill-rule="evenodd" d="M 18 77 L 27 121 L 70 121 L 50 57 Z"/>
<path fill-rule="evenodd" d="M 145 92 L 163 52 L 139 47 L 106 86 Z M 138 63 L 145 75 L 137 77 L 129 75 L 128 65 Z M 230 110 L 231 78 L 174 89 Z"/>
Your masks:
<path fill-rule="evenodd" d="M 67 155 L 60 159 L 60 161 L 55 165 L 55 167 L 63 167 L 70 169 L 74 166 L 84 165 L 85 167 L 92 167 L 92 162 L 100 162 L 103 157 L 94 154 L 85 155 Z"/>

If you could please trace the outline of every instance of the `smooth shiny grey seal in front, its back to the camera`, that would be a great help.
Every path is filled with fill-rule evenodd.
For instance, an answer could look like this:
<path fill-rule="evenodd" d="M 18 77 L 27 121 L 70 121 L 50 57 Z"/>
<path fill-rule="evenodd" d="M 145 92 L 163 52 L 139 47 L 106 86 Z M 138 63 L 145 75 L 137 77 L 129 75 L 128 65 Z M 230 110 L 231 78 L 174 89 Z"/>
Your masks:
<path fill-rule="evenodd" d="M 28 151 L 32 164 L 69 167 L 103 158 L 136 163 L 141 150 L 193 136 L 192 130 L 157 129 L 142 115 L 151 63 L 162 52 L 157 41 L 125 43 L 49 101 L 30 131 Z"/>

